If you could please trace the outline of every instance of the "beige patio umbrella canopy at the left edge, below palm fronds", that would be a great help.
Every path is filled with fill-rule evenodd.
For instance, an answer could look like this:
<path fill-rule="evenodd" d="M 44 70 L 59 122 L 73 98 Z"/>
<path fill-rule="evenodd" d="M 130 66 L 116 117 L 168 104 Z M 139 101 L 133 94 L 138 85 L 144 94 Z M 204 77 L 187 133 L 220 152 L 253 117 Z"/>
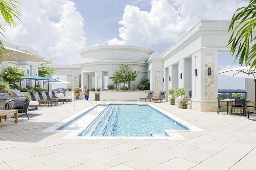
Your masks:
<path fill-rule="evenodd" d="M 35 62 L 53 63 L 46 59 L 42 59 L 41 57 L 37 57 L 33 54 L 25 53 L 23 51 L 20 51 L 20 50 L 14 49 L 14 48 L 5 47 L 5 49 L 8 52 L 8 54 L 6 54 L 7 58 L 2 56 L 5 59 L 3 60 L 2 58 L 0 58 L 0 62 L 2 62 L 2 61 L 35 61 Z M 0 49 L 0 50 L 3 51 L 2 49 Z"/>

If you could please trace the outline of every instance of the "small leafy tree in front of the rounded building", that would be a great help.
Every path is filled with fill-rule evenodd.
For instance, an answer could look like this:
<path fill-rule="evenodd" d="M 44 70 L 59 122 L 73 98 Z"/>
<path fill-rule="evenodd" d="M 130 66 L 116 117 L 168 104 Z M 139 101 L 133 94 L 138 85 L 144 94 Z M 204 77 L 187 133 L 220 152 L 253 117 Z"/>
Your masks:
<path fill-rule="evenodd" d="M 119 70 L 116 70 L 113 76 L 109 77 L 114 84 L 119 85 L 122 84 L 124 89 L 127 89 L 126 84 L 130 81 L 134 81 L 139 72 L 131 70 L 131 65 L 122 64 L 119 67 Z"/>

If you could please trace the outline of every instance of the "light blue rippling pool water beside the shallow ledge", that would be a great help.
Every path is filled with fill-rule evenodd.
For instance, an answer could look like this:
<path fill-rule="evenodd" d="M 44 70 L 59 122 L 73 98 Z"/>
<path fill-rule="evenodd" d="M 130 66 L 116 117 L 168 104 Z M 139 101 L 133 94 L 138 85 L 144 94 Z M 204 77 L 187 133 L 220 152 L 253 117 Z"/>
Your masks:
<path fill-rule="evenodd" d="M 149 105 L 109 105 L 80 136 L 152 136 L 188 128 Z"/>

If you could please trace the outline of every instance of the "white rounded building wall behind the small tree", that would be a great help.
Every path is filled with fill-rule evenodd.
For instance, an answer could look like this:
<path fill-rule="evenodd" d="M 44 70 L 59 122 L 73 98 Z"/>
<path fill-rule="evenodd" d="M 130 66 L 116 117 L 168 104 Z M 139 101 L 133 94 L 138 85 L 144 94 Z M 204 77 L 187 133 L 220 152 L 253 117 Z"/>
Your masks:
<path fill-rule="evenodd" d="M 147 78 L 147 60 L 154 51 L 128 45 L 108 45 L 85 48 L 81 55 L 82 87 L 104 89 L 111 84 L 110 76 L 121 64 L 131 65 L 132 70 L 139 71 L 130 89 L 137 89 L 141 79 Z M 108 79 L 108 81 L 106 81 Z"/>

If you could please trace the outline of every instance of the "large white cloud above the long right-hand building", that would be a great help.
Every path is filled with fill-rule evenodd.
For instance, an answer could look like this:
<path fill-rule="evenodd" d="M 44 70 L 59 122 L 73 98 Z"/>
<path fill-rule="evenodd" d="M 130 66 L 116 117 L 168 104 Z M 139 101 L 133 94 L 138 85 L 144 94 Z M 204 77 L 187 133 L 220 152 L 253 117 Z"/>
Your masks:
<path fill-rule="evenodd" d="M 120 39 L 109 45 L 138 45 L 163 52 L 201 19 L 230 20 L 245 0 L 151 0 L 151 10 L 127 5 L 119 21 Z M 164 45 L 163 45 L 164 44 Z"/>

